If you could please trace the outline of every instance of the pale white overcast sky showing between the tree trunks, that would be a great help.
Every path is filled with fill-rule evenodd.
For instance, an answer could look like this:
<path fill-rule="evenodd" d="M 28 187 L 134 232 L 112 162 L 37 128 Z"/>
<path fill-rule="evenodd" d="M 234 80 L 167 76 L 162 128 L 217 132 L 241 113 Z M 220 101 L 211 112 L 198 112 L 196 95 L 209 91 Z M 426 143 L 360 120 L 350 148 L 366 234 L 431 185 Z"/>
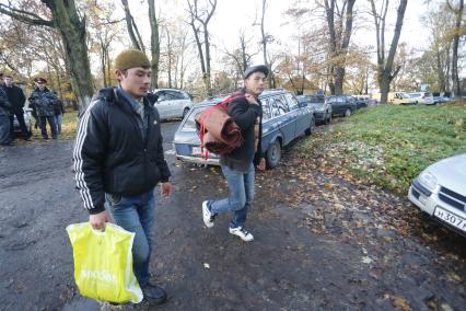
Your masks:
<path fill-rule="evenodd" d="M 203 0 L 199 0 L 202 2 Z M 435 1 L 435 0 L 434 0 Z M 434 2 L 432 1 L 432 2 Z M 440 1 L 440 0 L 436 0 Z M 145 1 L 129 1 L 131 10 L 140 12 L 140 14 L 133 14 L 137 19 L 137 23 L 141 25 L 143 36 L 149 38 L 149 26 L 147 21 L 147 3 Z M 155 1 L 156 10 L 162 18 L 175 19 L 178 16 L 183 19 L 186 13 L 186 1 L 184 0 L 163 0 Z M 386 42 L 392 41 L 392 31 L 394 28 L 396 20 L 396 10 L 398 1 L 394 2 L 388 10 L 388 26 Z M 420 16 L 426 14 L 428 5 L 423 3 L 424 0 L 409 0 L 408 7 L 405 13 L 404 27 L 401 31 L 400 43 L 406 42 L 409 47 L 416 47 L 423 49 L 428 46 L 429 33 L 422 30 Z M 281 43 L 281 47 L 272 44 L 270 49 L 276 48 L 290 48 L 292 50 L 298 49 L 296 41 L 291 38 L 292 35 L 299 31 L 295 23 L 284 14 L 284 12 L 292 8 L 294 0 L 268 0 L 268 8 L 266 11 L 266 31 L 272 34 Z M 356 27 L 351 42 L 358 45 L 373 45 L 375 47 L 375 33 L 373 32 L 372 19 L 368 14 L 364 14 L 364 8 L 369 1 L 358 0 L 356 1 L 354 9 L 359 15 L 356 19 Z M 369 8 L 369 7 L 368 7 Z M 365 9 L 366 11 L 366 9 Z M 225 48 L 232 50 L 238 45 L 238 31 L 241 28 L 246 30 L 248 37 L 254 37 L 252 44 L 256 45 L 260 37 L 260 28 L 253 26 L 253 22 L 257 15 L 257 21 L 260 19 L 261 12 L 261 0 L 218 0 L 218 5 L 212 21 L 209 24 L 209 31 L 211 33 L 212 43 L 220 50 Z M 138 16 L 143 16 L 138 19 Z M 362 19 L 366 19 L 368 22 L 364 24 Z M 316 23 L 317 21 L 314 21 Z M 307 23 L 306 26 L 312 26 Z M 219 56 L 217 53 L 217 56 Z M 261 54 L 254 58 L 254 62 L 261 62 Z"/>

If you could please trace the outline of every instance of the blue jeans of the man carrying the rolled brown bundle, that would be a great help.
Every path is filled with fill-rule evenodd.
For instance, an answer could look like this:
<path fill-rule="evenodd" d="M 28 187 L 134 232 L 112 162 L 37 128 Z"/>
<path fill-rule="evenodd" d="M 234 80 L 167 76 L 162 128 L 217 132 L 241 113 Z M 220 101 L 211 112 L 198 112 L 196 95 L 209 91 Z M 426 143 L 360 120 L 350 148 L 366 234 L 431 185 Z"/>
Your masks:
<path fill-rule="evenodd" d="M 242 227 L 246 221 L 247 210 L 254 199 L 254 164 L 251 163 L 246 172 L 222 165 L 222 172 L 229 184 L 230 197 L 211 200 L 208 207 L 213 215 L 234 211 L 230 228 Z"/>

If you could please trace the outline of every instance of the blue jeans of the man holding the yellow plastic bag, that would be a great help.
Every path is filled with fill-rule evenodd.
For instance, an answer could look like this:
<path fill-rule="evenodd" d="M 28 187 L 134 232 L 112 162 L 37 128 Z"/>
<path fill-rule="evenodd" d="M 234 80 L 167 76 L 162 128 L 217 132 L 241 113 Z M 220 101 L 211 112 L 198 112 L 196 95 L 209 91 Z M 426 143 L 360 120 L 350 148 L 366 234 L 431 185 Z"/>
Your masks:
<path fill-rule="evenodd" d="M 143 286 L 151 277 L 149 263 L 155 221 L 153 189 L 136 196 L 105 194 L 105 200 L 115 222 L 136 233 L 132 243 L 132 266 L 139 285 Z"/>

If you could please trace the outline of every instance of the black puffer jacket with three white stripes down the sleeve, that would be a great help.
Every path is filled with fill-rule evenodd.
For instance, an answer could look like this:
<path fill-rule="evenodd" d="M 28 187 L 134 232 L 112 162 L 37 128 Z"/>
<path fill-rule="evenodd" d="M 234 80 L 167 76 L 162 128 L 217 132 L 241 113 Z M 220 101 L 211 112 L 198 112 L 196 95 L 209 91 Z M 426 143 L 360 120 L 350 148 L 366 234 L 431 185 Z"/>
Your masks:
<path fill-rule="evenodd" d="M 144 99 L 145 139 L 140 115 L 120 89 L 103 89 L 82 115 L 73 160 L 78 188 L 90 214 L 104 210 L 105 193 L 139 195 L 167 182 L 160 117 Z"/>

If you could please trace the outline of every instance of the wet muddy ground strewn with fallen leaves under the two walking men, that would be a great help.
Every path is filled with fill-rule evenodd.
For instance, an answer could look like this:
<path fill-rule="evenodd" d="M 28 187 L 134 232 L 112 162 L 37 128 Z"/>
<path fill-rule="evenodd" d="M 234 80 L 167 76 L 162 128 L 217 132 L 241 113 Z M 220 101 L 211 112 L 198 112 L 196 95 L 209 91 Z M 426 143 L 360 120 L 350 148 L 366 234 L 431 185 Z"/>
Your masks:
<path fill-rule="evenodd" d="M 163 200 L 156 189 L 152 268 L 170 296 L 156 309 L 465 310 L 465 238 L 406 198 L 313 170 L 294 151 L 257 176 L 254 242 L 229 234 L 228 216 L 205 228 L 201 201 L 226 195 L 226 184 L 217 169 L 175 161 L 176 127 L 163 124 L 175 192 Z M 73 281 L 65 228 L 88 215 L 71 151 L 72 141 L 0 149 L 0 310 L 107 308 Z"/>

